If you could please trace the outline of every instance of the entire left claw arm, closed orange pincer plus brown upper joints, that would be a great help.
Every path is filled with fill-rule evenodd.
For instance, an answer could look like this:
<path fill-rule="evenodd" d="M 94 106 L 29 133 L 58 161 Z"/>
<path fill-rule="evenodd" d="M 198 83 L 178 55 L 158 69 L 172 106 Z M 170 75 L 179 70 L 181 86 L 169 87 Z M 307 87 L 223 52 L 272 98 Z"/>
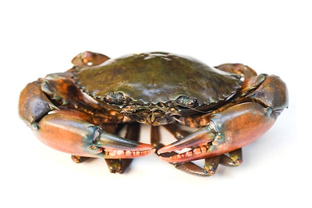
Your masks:
<path fill-rule="evenodd" d="M 155 152 L 153 145 L 110 134 L 92 124 L 91 112 L 98 105 L 85 98 L 70 80 L 55 77 L 29 83 L 20 94 L 19 116 L 41 142 L 83 157 L 124 159 Z M 58 103 L 66 103 L 71 108 L 59 109 Z M 80 111 L 75 110 L 75 106 L 79 106 Z"/>

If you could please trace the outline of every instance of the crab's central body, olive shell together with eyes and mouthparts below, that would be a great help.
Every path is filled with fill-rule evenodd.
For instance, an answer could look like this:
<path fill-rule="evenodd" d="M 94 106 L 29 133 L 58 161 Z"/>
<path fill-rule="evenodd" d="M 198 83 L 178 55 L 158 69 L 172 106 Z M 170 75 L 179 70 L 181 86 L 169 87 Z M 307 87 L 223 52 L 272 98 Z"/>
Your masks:
<path fill-rule="evenodd" d="M 73 74 L 80 89 L 116 111 L 124 112 L 131 106 L 134 111 L 153 114 L 164 110 L 160 108 L 173 107 L 167 114 L 178 112 L 177 118 L 208 112 L 233 96 L 243 83 L 243 75 L 164 52 L 130 54 L 96 66 L 77 66 Z M 190 100 L 194 103 L 191 107 L 187 105 Z M 175 121 L 165 116 L 151 122 L 142 113 L 126 116 L 148 125 Z"/>

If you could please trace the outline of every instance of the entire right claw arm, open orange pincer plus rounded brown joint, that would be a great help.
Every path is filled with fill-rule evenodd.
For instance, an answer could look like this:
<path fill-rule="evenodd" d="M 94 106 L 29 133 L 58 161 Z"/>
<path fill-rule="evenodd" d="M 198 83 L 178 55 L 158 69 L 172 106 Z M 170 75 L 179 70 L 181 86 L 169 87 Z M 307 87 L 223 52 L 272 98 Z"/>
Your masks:
<path fill-rule="evenodd" d="M 257 83 L 258 80 L 261 80 L 260 87 L 246 96 L 246 103 L 213 114 L 207 126 L 160 148 L 157 153 L 183 148 L 191 150 L 160 158 L 171 163 L 211 158 L 237 150 L 262 136 L 272 127 L 283 109 L 288 107 L 289 97 L 286 84 L 274 75 L 252 78 L 247 82 L 250 85 L 243 89 L 252 88 L 253 82 Z"/>

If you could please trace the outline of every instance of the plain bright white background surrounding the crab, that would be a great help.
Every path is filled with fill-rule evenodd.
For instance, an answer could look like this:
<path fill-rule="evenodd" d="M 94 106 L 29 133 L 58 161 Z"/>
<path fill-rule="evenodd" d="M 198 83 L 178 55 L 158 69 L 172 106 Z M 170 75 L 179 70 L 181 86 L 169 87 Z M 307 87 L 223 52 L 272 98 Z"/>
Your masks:
<path fill-rule="evenodd" d="M 311 128 L 297 123 L 303 117 L 311 123 L 312 15 L 305 2 L 1 2 L 0 207 L 311 206 Z M 75 164 L 44 146 L 17 115 L 27 83 L 69 69 L 85 50 L 111 58 L 166 51 L 211 66 L 243 63 L 279 75 L 288 84 L 290 105 L 265 135 L 243 148 L 240 167 L 219 166 L 213 177 L 196 177 L 153 154 L 134 160 L 125 174 L 111 174 L 102 159 Z M 142 136 L 149 141 L 148 131 Z"/>

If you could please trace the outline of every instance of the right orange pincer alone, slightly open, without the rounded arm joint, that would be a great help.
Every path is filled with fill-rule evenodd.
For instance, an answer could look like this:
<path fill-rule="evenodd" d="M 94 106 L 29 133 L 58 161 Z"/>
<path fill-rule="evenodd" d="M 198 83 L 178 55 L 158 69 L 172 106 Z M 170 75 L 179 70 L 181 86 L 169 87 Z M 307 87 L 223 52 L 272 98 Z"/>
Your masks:
<path fill-rule="evenodd" d="M 190 150 L 170 157 L 161 157 L 171 163 L 188 162 L 239 149 L 259 138 L 275 123 L 280 110 L 272 110 L 258 103 L 234 105 L 211 118 L 210 123 L 157 153 L 172 152 L 183 148 Z"/>

